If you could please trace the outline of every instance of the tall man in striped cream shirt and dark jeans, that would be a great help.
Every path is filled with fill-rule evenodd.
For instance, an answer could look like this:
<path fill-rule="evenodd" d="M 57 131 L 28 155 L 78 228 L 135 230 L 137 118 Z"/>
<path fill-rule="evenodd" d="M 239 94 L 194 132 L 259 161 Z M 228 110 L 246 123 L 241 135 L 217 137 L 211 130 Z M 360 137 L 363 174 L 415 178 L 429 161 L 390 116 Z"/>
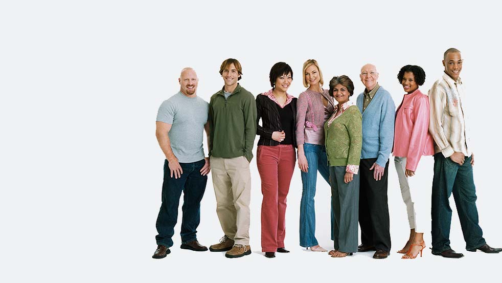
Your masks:
<path fill-rule="evenodd" d="M 459 75 L 463 59 L 459 50 L 450 48 L 443 57 L 443 77 L 429 90 L 429 132 L 435 141 L 434 178 L 432 180 L 432 254 L 449 258 L 464 255 L 450 247 L 451 208 L 453 193 L 468 251 L 498 253 L 483 238 L 478 224 L 476 190 L 472 175 L 474 155 L 469 142 L 466 121 L 465 91 Z"/>

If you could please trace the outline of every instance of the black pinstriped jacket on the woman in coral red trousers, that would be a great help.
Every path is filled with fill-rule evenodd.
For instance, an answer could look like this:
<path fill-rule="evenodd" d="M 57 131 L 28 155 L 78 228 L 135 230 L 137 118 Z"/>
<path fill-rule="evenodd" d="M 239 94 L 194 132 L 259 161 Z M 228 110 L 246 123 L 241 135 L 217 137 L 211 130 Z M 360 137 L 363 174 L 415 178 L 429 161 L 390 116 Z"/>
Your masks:
<path fill-rule="evenodd" d="M 272 101 L 268 96 L 259 94 L 256 96 L 256 134 L 260 136 L 258 140 L 258 145 L 269 145 L 276 146 L 281 144 L 278 141 L 272 140 L 273 132 L 280 132 L 282 130 L 281 117 L 279 116 L 279 111 L 277 110 L 276 102 Z M 293 125 L 296 124 L 296 97 L 289 102 L 293 110 Z M 262 125 L 260 126 L 258 122 L 262 120 Z M 293 129 L 293 146 L 296 147 L 296 136 L 295 130 Z"/>

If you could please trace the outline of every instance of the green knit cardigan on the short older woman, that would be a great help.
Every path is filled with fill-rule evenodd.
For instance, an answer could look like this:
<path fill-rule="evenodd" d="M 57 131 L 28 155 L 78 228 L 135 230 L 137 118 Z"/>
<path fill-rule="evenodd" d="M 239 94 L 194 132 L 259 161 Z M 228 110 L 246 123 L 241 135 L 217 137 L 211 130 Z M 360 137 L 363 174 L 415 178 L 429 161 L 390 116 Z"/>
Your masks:
<path fill-rule="evenodd" d="M 359 165 L 362 147 L 362 116 L 352 105 L 335 118 L 328 127 L 324 125 L 326 154 L 329 166 Z"/>

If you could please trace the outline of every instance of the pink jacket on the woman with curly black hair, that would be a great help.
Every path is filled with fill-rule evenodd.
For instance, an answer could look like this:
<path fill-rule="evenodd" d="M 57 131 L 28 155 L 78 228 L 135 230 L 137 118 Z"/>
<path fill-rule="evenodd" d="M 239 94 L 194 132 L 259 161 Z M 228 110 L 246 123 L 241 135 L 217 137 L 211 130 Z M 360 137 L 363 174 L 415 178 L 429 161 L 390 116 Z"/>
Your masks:
<path fill-rule="evenodd" d="M 397 108 L 394 128 L 394 156 L 406 157 L 406 169 L 415 171 L 420 157 L 434 154 L 429 134 L 429 98 L 416 90 L 405 94 Z"/>

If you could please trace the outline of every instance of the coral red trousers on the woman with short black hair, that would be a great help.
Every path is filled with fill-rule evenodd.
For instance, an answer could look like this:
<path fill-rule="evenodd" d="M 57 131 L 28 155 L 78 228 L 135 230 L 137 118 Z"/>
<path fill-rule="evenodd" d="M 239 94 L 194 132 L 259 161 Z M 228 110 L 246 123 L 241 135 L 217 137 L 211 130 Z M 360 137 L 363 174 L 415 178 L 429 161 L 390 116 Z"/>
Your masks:
<path fill-rule="evenodd" d="M 258 146 L 257 166 L 261 178 L 262 252 L 284 247 L 286 235 L 286 197 L 296 162 L 292 145 Z"/>

